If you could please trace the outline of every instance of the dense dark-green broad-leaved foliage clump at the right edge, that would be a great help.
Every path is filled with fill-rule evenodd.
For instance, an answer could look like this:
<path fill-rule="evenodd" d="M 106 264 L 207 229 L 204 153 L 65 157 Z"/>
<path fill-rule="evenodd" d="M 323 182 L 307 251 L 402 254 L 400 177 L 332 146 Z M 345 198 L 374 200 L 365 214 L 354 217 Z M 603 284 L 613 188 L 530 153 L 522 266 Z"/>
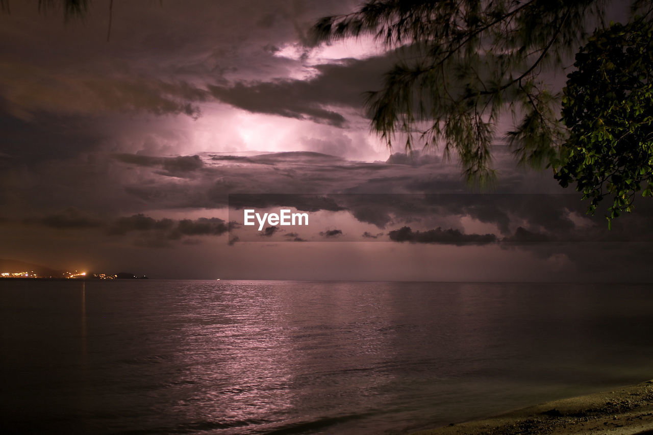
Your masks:
<path fill-rule="evenodd" d="M 577 183 L 590 212 L 605 195 L 609 219 L 653 196 L 653 30 L 645 20 L 599 29 L 576 55 L 562 98 L 569 129 L 555 178 Z"/>

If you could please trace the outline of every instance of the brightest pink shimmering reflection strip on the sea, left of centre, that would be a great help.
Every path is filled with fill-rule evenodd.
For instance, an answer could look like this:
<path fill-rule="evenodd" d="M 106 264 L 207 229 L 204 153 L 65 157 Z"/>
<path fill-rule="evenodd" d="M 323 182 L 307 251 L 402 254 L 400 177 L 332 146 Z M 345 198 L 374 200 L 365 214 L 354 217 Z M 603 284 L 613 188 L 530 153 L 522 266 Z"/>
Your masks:
<path fill-rule="evenodd" d="M 187 392 L 172 411 L 223 427 L 263 424 L 290 408 L 289 343 L 264 286 L 204 283 L 182 302 L 178 355 Z"/>

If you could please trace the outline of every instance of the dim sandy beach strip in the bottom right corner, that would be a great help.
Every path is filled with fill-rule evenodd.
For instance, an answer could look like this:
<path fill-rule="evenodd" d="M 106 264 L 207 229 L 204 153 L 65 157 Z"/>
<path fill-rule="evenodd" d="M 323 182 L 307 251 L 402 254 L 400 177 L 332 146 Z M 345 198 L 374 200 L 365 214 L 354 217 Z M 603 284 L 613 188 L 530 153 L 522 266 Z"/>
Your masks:
<path fill-rule="evenodd" d="M 653 380 L 414 435 L 653 434 Z"/>

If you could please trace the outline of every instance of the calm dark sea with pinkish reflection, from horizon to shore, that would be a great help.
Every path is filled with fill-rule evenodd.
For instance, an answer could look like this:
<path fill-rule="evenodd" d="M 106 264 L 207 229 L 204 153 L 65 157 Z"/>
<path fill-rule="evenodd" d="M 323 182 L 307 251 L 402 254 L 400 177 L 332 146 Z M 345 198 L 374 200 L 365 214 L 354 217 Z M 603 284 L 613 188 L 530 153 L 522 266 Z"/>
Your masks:
<path fill-rule="evenodd" d="M 0 432 L 406 434 L 653 378 L 653 286 L 0 282 Z"/>

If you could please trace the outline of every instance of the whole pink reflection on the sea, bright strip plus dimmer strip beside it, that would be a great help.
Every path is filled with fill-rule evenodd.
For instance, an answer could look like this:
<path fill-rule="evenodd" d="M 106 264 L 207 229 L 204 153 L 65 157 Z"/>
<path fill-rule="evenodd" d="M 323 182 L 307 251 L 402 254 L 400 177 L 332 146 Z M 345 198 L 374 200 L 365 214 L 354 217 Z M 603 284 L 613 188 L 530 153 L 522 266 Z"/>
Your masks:
<path fill-rule="evenodd" d="M 183 324 L 175 358 L 186 369 L 174 381 L 180 398 L 170 413 L 239 432 L 279 422 L 312 427 L 315 415 L 347 419 L 357 398 L 381 410 L 379 390 L 397 368 L 384 364 L 394 353 L 387 293 L 351 293 L 347 283 L 327 293 L 313 283 L 197 285 L 175 310 Z"/>

